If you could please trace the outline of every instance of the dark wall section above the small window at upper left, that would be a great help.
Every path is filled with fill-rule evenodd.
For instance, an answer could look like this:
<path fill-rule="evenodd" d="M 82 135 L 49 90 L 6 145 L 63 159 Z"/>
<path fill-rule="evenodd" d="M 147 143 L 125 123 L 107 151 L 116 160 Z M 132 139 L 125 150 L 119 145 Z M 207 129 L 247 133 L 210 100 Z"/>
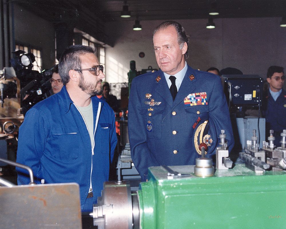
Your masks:
<path fill-rule="evenodd" d="M 55 64 L 55 29 L 53 23 L 14 4 L 15 42 L 42 50 L 43 69 Z"/>

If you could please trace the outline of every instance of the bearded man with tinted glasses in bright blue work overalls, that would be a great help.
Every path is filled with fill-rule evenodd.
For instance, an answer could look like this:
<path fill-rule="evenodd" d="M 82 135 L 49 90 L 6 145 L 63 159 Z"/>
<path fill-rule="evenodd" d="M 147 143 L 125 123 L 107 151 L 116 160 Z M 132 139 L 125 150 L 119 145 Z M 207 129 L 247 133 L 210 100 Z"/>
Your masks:
<path fill-rule="evenodd" d="M 81 210 L 92 211 L 108 181 L 117 143 L 110 106 L 102 93 L 103 66 L 89 46 L 67 48 L 59 60 L 64 84 L 57 94 L 37 103 L 19 129 L 17 162 L 31 167 L 37 183 L 76 182 Z M 17 168 L 18 185 L 30 182 Z M 72 200 L 71 200 L 72 201 Z"/>

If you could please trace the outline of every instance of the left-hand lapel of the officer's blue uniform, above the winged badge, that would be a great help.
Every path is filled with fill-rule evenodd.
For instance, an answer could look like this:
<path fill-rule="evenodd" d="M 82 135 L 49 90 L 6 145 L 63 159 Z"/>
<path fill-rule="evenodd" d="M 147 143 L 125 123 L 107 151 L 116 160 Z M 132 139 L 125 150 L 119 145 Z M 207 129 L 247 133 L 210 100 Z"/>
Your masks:
<path fill-rule="evenodd" d="M 158 76 L 161 79 L 157 82 L 156 78 Z M 170 89 L 168 87 L 166 78 L 165 78 L 164 73 L 162 72 L 162 70 L 158 71 L 158 74 L 156 74 L 156 77 L 154 78 L 154 82 L 156 84 L 156 86 L 155 86 L 156 92 L 162 97 L 163 100 L 165 100 L 169 104 L 169 106 L 172 106 L 173 105 L 173 98 L 172 98 Z"/>

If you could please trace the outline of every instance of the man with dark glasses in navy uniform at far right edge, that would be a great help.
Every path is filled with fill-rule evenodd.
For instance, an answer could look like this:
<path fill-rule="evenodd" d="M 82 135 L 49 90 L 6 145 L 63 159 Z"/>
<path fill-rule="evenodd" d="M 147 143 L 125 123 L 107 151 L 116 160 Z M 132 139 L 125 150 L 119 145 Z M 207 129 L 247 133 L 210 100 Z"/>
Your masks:
<path fill-rule="evenodd" d="M 265 96 L 266 134 L 273 130 L 274 145 L 281 146 L 281 133 L 286 129 L 286 91 L 282 88 L 285 82 L 284 68 L 270 66 L 267 70 L 269 90 Z"/>

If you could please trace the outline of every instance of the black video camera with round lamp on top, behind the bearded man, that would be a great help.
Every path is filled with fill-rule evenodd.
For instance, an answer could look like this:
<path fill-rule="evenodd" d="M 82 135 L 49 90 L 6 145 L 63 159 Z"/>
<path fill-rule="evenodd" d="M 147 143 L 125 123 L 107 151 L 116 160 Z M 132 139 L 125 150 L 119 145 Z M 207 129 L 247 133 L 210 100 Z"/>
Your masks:
<path fill-rule="evenodd" d="M 22 50 L 13 53 L 16 57 L 11 59 L 10 62 L 15 69 L 17 78 L 20 80 L 21 107 L 23 115 L 25 115 L 33 105 L 50 95 L 50 78 L 57 65 L 49 70 L 38 72 L 32 70 L 35 61 L 35 56 L 32 53 L 25 54 Z"/>

